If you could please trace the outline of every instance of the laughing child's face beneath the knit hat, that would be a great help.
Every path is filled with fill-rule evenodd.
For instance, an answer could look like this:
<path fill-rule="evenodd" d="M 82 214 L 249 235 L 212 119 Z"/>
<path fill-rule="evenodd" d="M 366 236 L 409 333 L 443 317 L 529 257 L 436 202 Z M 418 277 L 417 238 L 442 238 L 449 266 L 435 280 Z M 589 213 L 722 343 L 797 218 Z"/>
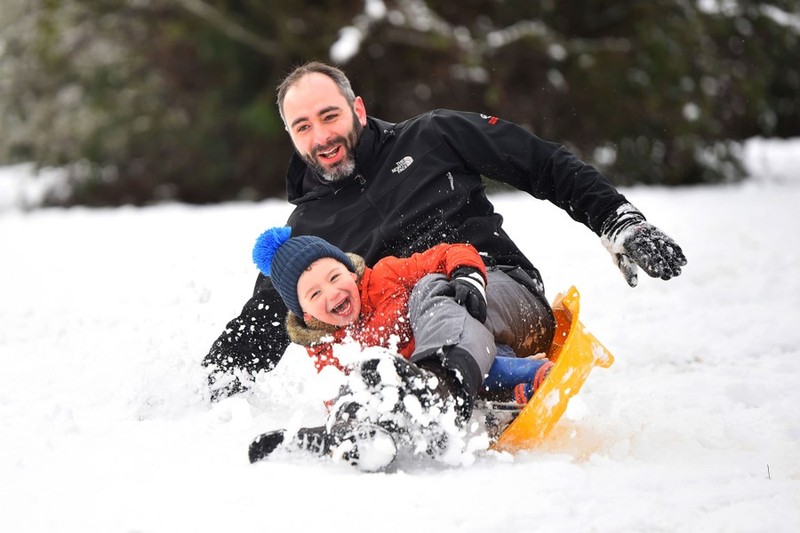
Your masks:
<path fill-rule="evenodd" d="M 356 274 L 332 257 L 317 259 L 297 280 L 303 319 L 314 317 L 334 326 L 347 326 L 361 312 Z"/>

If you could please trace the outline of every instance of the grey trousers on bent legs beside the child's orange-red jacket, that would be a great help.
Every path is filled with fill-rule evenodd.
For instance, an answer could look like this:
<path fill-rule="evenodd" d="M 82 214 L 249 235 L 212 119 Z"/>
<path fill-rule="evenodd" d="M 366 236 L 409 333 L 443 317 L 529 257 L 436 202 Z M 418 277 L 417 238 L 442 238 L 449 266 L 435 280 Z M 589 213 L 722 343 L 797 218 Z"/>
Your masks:
<path fill-rule="evenodd" d="M 417 282 L 408 304 L 416 343 L 414 355 L 458 346 L 469 352 L 486 376 L 498 344 L 510 346 L 518 357 L 546 352 L 550 347 L 550 306 L 544 296 L 534 295 L 505 272 L 488 271 L 484 324 L 457 304 L 451 294 L 448 278 L 442 274 L 429 274 Z"/>

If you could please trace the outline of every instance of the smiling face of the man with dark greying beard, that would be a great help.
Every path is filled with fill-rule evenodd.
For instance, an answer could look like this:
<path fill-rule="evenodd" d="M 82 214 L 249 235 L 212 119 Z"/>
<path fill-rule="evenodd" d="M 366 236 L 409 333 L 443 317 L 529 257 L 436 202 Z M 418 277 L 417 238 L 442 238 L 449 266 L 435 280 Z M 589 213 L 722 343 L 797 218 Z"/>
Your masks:
<path fill-rule="evenodd" d="M 328 181 L 340 181 L 355 170 L 355 147 L 367 123 L 361 97 L 351 107 L 328 76 L 308 74 L 283 101 L 286 129 L 297 152 Z"/>

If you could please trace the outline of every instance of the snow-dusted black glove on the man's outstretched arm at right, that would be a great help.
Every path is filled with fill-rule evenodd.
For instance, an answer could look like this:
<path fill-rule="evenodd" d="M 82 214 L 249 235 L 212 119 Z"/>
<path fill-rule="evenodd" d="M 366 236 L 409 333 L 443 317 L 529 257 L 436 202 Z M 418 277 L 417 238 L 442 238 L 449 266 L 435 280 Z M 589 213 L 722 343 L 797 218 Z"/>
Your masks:
<path fill-rule="evenodd" d="M 603 223 L 601 239 L 631 287 L 639 282 L 638 267 L 654 278 L 668 280 L 680 275 L 686 265 L 681 247 L 629 203 Z"/>

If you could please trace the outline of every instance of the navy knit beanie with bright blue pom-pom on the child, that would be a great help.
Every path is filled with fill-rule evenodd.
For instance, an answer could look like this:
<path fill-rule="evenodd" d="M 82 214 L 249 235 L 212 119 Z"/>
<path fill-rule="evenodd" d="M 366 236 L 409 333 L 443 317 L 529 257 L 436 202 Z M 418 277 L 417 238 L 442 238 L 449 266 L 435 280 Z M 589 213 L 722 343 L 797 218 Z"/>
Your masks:
<path fill-rule="evenodd" d="M 303 309 L 297 299 L 297 281 L 311 263 L 323 257 L 332 257 L 355 272 L 353 262 L 339 248 L 313 235 L 292 237 L 292 228 L 288 226 L 268 229 L 253 247 L 253 262 L 270 277 L 289 311 L 301 319 Z"/>

